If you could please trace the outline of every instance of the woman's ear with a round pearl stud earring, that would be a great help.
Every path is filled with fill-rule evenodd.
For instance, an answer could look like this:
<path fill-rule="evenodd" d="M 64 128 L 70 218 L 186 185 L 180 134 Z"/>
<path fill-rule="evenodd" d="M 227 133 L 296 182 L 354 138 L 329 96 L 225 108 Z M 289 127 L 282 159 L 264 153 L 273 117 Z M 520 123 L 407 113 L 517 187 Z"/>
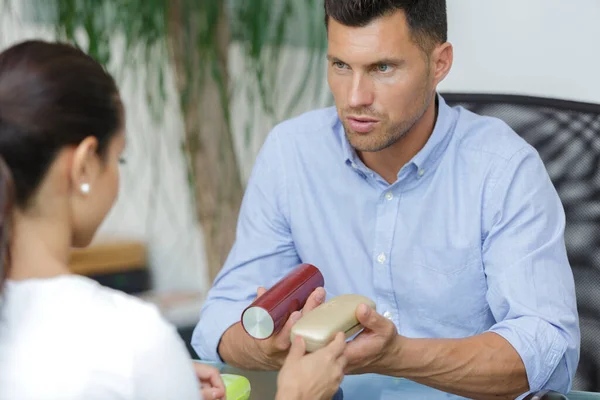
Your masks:
<path fill-rule="evenodd" d="M 88 136 L 73 152 L 71 184 L 75 192 L 82 195 L 90 193 L 101 168 L 101 160 L 98 156 L 98 139 Z"/>

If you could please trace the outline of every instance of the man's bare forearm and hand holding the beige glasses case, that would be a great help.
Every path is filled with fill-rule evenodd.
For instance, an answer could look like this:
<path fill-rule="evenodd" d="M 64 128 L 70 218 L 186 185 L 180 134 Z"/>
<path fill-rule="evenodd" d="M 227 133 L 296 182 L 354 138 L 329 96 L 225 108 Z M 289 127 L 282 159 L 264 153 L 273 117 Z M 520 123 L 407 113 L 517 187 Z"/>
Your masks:
<path fill-rule="evenodd" d="M 494 332 L 462 339 L 407 338 L 364 304 L 356 317 L 365 329 L 346 345 L 346 374 L 406 378 L 469 399 L 514 399 L 530 390 L 521 357 Z"/>

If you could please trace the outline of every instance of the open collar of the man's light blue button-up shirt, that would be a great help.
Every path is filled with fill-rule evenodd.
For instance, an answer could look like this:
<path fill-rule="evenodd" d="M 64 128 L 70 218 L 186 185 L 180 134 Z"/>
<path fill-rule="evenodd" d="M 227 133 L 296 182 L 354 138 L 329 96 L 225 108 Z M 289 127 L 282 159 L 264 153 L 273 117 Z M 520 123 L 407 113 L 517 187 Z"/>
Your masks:
<path fill-rule="evenodd" d="M 440 94 L 436 94 L 436 96 L 438 101 L 438 115 L 433 132 L 431 133 L 429 140 L 427 140 L 427 143 L 425 143 L 425 146 L 423 146 L 409 162 L 409 164 L 414 164 L 417 167 L 417 170 L 428 168 L 439 158 L 446 148 L 447 140 L 444 139 L 448 136 L 448 133 L 454 126 L 455 118 L 452 108 L 446 104 L 446 101 Z M 346 138 L 344 127 L 342 126 L 337 113 L 335 120 L 335 124 L 337 125 L 336 128 L 341 133 L 343 161 L 348 165 L 362 164 L 356 151 Z"/>

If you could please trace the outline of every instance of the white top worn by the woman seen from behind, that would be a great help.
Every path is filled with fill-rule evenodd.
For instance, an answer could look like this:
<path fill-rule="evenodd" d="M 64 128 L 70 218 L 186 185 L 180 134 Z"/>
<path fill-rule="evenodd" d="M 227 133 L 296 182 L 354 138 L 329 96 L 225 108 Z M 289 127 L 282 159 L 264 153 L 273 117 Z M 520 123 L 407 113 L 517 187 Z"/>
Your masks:
<path fill-rule="evenodd" d="M 155 306 L 75 275 L 5 283 L 1 400 L 200 398 L 189 353 Z"/>

